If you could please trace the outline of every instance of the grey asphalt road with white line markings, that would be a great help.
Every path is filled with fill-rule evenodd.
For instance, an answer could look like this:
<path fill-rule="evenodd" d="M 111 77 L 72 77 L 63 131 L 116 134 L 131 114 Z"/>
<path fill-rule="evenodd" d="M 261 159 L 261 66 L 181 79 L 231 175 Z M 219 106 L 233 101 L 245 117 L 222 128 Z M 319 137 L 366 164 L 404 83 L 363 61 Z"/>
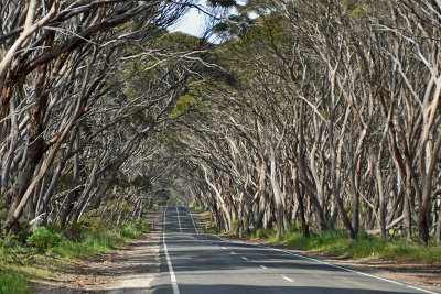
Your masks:
<path fill-rule="evenodd" d="M 198 233 L 190 210 L 163 213 L 154 293 L 434 293 L 279 249 Z"/>

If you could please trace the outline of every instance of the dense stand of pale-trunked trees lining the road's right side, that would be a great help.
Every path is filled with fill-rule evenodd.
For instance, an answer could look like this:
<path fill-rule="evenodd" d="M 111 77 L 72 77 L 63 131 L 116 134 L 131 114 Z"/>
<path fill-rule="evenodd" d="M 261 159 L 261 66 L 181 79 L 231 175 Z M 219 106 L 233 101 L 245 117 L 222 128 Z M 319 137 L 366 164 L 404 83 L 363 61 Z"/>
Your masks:
<path fill-rule="evenodd" d="M 229 37 L 219 64 L 237 81 L 201 87 L 215 110 L 189 128 L 187 160 L 213 190 L 196 181 L 195 197 L 222 206 L 246 186 L 262 202 L 247 214 L 273 215 L 280 237 L 299 217 L 353 239 L 400 228 L 411 238 L 417 227 L 437 241 L 439 6 L 275 0 L 238 11 L 215 28 Z"/>

